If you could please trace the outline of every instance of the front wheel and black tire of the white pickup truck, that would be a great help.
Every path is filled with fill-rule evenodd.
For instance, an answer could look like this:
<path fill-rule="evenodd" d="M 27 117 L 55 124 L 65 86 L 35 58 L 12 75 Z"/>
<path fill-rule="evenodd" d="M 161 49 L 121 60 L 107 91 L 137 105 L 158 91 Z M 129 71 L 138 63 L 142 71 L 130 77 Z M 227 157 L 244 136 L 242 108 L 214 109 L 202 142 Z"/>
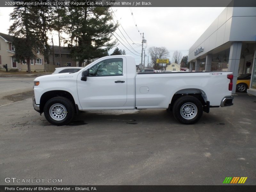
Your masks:
<path fill-rule="evenodd" d="M 44 116 L 51 124 L 66 125 L 74 115 L 75 106 L 65 97 L 54 97 L 44 105 Z"/>

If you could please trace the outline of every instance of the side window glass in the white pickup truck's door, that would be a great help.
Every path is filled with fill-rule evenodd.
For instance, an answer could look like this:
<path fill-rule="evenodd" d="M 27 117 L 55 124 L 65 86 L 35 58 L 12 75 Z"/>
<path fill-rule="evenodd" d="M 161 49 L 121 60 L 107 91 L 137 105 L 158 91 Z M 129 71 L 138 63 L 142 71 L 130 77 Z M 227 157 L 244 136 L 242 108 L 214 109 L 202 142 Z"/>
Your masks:
<path fill-rule="evenodd" d="M 92 76 L 121 76 L 123 75 L 123 59 L 106 59 L 96 63 L 89 69 L 89 77 Z"/>

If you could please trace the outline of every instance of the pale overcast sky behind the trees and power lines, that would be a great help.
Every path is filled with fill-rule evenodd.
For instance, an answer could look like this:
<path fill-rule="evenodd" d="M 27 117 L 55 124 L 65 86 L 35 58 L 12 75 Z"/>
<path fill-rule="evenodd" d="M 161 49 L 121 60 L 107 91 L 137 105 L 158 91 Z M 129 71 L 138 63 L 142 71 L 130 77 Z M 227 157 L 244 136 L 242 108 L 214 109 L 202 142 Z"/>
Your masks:
<path fill-rule="evenodd" d="M 170 60 L 175 50 L 180 51 L 182 55 L 188 55 L 188 49 L 224 9 L 225 7 L 112 7 L 115 13 L 114 21 L 118 20 L 129 36 L 119 26 L 124 36 L 118 29 L 116 30 L 118 35 L 115 33 L 115 36 L 127 48 L 120 42 L 118 42 L 117 47 L 124 49 L 127 55 L 134 56 L 136 64 L 139 64 L 141 61 L 141 46 L 132 43 L 141 44 L 142 34 L 140 35 L 140 33 L 144 33 L 144 37 L 147 40 L 146 55 L 148 55 L 148 48 L 152 46 L 166 47 L 170 52 Z M 11 24 L 9 14 L 11 12 L 12 8 L 0 7 L 1 33 L 8 34 L 8 28 Z M 57 33 L 54 36 L 54 45 L 58 45 Z M 109 54 L 114 49 L 111 49 Z M 145 65 L 147 62 L 148 59 L 146 57 Z"/>

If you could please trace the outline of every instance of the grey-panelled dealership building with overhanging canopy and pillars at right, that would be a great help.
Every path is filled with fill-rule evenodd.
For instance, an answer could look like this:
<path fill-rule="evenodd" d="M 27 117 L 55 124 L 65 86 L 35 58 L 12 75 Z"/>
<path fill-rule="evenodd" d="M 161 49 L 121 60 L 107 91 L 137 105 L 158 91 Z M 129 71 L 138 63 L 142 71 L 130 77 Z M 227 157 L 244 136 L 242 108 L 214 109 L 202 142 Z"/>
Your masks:
<path fill-rule="evenodd" d="M 251 73 L 247 92 L 256 96 L 256 7 L 226 7 L 189 49 L 189 71 Z"/>

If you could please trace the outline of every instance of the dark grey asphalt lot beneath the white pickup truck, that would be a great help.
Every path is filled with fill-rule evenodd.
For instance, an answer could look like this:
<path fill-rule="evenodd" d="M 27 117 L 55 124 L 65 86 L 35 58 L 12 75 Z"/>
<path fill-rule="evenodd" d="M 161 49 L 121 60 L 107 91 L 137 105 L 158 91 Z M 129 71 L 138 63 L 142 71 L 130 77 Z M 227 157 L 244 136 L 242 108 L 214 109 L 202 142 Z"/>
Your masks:
<path fill-rule="evenodd" d="M 255 185 L 255 113 L 246 93 L 193 125 L 146 109 L 83 112 L 54 126 L 31 99 L 1 106 L 0 185 L 222 185 L 226 177 Z M 14 177 L 40 182 L 5 182 Z"/>

